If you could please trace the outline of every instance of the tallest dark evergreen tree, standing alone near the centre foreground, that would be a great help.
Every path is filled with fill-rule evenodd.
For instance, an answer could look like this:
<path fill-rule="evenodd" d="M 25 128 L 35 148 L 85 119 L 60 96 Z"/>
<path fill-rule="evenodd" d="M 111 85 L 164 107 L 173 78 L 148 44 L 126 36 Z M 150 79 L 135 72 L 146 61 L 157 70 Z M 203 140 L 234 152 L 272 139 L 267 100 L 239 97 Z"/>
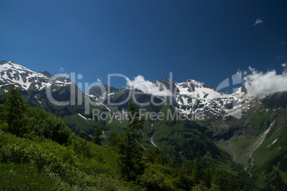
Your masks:
<path fill-rule="evenodd" d="M 128 108 L 129 124 L 126 125 L 126 150 L 125 150 L 125 165 L 124 174 L 127 180 L 131 180 L 139 174 L 139 170 L 143 167 L 141 165 L 142 154 L 141 146 L 137 143 L 137 139 L 141 138 L 139 132 L 144 128 L 144 120 L 140 118 L 139 105 L 130 101 Z"/>

